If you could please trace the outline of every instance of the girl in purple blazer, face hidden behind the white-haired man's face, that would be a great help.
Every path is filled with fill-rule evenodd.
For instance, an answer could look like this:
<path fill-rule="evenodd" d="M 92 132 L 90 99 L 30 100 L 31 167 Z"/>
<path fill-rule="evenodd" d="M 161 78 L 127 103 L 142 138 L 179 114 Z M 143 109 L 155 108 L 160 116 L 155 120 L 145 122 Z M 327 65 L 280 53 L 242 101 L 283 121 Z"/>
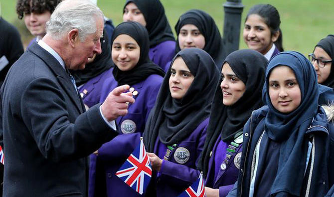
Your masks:
<path fill-rule="evenodd" d="M 106 31 L 103 31 L 106 35 Z M 100 102 L 101 89 L 104 81 L 112 75 L 111 46 L 108 44 L 108 36 L 101 41 L 101 54 L 94 55 L 83 70 L 70 70 L 80 92 L 80 96 L 86 109 Z"/>

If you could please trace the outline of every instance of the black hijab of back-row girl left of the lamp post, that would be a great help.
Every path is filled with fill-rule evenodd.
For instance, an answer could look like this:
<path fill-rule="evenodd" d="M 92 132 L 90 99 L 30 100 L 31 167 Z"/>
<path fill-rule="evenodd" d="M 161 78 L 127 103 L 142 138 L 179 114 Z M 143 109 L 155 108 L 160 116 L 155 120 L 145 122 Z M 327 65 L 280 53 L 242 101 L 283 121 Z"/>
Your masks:
<path fill-rule="evenodd" d="M 213 18 L 202 10 L 191 9 L 182 14 L 178 19 L 175 25 L 175 31 L 177 34 L 175 53 L 181 50 L 180 46 L 178 45 L 178 34 L 180 33 L 182 26 L 186 24 L 195 25 L 203 34 L 205 38 L 205 46 L 203 50 L 211 55 L 216 65 L 218 66 L 218 69 L 220 69 L 226 57 L 223 41 Z"/>

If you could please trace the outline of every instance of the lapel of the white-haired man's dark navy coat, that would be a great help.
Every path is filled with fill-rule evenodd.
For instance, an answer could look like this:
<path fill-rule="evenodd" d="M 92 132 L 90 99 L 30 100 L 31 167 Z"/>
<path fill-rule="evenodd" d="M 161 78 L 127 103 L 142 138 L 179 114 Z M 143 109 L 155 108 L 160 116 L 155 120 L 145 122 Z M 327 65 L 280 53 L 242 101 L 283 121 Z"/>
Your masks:
<path fill-rule="evenodd" d="M 78 91 L 75 90 L 70 77 L 66 73 L 65 69 L 60 65 L 58 60 L 54 58 L 49 52 L 39 46 L 37 43 L 33 43 L 28 50 L 37 55 L 42 59 L 45 64 L 50 68 L 53 74 L 57 77 L 59 84 L 65 90 L 66 94 L 70 97 L 72 102 L 75 104 L 78 111 L 83 113 L 81 97 L 78 94 Z"/>

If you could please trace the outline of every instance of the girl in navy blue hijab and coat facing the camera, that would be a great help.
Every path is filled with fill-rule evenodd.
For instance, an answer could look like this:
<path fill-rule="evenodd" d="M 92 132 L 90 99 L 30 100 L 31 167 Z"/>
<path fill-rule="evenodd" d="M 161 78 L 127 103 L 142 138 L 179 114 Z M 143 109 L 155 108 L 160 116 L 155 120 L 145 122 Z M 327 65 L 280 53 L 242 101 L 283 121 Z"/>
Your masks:
<path fill-rule="evenodd" d="M 238 182 L 228 197 L 323 197 L 333 185 L 333 125 L 318 105 L 317 73 L 298 52 L 274 56 L 263 101 L 244 127 Z"/>

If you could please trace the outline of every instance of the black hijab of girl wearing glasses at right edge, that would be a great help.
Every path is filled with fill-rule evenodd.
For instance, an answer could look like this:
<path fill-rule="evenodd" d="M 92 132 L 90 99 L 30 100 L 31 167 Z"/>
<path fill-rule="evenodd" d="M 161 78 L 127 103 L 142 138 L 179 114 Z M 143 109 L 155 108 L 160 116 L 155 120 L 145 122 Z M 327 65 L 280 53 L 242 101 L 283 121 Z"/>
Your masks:
<path fill-rule="evenodd" d="M 331 56 L 332 60 L 334 59 L 334 35 L 328 35 L 326 38 L 323 38 L 315 46 L 319 46 L 326 51 L 326 53 Z M 314 52 L 314 50 L 313 50 Z M 331 72 L 328 78 L 322 83 L 328 87 L 334 88 L 334 62 L 332 61 Z"/>

